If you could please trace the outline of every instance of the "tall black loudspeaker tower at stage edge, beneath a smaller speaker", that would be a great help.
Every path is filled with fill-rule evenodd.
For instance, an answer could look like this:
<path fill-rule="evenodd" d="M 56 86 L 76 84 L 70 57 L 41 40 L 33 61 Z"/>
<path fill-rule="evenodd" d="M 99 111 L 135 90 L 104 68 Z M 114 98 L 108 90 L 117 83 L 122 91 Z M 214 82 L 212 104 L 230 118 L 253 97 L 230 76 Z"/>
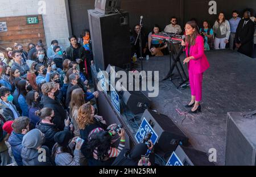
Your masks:
<path fill-rule="evenodd" d="M 88 10 L 88 16 L 96 68 L 105 70 L 108 64 L 123 68 L 129 64 L 129 14 L 104 15 L 96 10 Z"/>

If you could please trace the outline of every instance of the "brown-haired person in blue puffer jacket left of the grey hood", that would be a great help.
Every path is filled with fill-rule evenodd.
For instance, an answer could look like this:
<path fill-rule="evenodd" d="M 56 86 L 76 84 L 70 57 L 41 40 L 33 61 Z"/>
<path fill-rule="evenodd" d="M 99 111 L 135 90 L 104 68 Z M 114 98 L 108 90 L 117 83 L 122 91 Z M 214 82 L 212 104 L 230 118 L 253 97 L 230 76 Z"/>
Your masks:
<path fill-rule="evenodd" d="M 30 120 L 28 117 L 19 117 L 14 120 L 13 124 L 11 124 L 13 132 L 11 132 L 11 136 L 9 137 L 8 142 L 11 145 L 11 151 L 13 151 L 13 157 L 18 166 L 23 165 L 20 153 L 23 147 L 23 137 L 30 130 L 29 125 Z"/>

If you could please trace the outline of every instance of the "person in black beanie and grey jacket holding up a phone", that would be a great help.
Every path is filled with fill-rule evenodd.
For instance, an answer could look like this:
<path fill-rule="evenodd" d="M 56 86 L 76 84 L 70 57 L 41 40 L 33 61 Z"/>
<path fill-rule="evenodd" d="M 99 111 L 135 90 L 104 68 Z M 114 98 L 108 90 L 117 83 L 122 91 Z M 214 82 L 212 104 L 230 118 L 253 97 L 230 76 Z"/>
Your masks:
<path fill-rule="evenodd" d="M 69 131 L 55 134 L 56 144 L 52 148 L 52 158 L 57 166 L 80 166 L 82 140 L 76 141 L 77 138 L 72 139 L 72 133 Z M 72 141 L 69 143 L 71 139 Z M 75 150 L 73 151 L 74 146 Z"/>

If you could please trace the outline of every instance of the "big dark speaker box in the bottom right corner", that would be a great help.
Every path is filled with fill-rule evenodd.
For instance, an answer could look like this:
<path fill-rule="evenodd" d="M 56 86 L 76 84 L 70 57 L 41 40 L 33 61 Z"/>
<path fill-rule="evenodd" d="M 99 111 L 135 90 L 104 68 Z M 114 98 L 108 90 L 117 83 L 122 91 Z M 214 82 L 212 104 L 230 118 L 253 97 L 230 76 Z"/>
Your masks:
<path fill-rule="evenodd" d="M 225 165 L 256 165 L 256 116 L 243 115 L 246 113 L 228 113 Z"/>

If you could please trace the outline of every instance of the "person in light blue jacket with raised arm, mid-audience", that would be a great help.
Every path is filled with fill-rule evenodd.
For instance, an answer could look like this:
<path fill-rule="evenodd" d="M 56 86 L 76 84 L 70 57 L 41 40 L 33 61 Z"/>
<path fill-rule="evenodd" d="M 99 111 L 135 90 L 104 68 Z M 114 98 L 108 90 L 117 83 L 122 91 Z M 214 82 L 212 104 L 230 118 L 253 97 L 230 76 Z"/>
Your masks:
<path fill-rule="evenodd" d="M 49 82 L 51 78 L 51 66 L 46 67 L 42 64 L 37 64 L 35 70 L 38 72 L 38 76 L 36 77 L 36 85 L 39 85 L 43 82 Z"/>

